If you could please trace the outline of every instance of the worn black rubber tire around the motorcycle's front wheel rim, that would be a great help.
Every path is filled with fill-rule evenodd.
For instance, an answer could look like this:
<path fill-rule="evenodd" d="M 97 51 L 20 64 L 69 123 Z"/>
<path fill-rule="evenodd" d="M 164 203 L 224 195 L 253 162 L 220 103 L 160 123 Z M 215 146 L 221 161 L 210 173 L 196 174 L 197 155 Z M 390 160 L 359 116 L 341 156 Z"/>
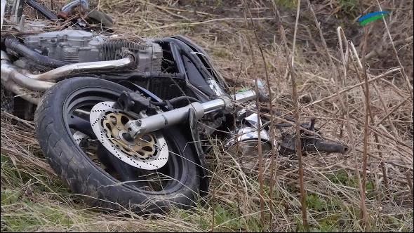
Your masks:
<path fill-rule="evenodd" d="M 173 140 L 185 157 L 184 169 L 187 174 L 182 186 L 171 194 L 146 194 L 133 186 L 120 183 L 96 166 L 67 133 L 63 107 L 67 96 L 86 86 L 106 88 L 116 93 L 128 91 L 113 82 L 88 77 L 72 78 L 55 84 L 44 94 L 39 103 L 34 121 L 36 135 L 46 159 L 53 170 L 72 189 L 81 194 L 87 204 L 120 210 L 130 209 L 137 213 L 163 213 L 171 206 L 187 208 L 194 206 L 199 194 L 200 175 L 196 164 L 196 152 L 187 145 L 188 140 L 178 128 L 163 132 L 166 140 Z M 170 153 L 171 157 L 171 153 Z M 144 205 L 145 206 L 142 206 Z"/>

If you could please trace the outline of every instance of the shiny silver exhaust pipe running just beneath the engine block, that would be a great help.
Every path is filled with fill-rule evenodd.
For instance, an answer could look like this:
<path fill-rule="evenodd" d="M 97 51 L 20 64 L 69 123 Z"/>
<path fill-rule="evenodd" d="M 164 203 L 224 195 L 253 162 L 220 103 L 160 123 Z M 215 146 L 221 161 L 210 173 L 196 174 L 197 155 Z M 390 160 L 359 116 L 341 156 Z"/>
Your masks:
<path fill-rule="evenodd" d="M 134 59 L 131 57 L 100 62 L 82 62 L 64 65 L 43 74 L 27 74 L 27 76 L 30 76 L 32 79 L 37 80 L 56 81 L 56 79 L 62 79 L 66 76 L 71 76 L 74 74 L 86 74 L 91 72 L 121 69 L 133 65 L 133 63 Z"/>

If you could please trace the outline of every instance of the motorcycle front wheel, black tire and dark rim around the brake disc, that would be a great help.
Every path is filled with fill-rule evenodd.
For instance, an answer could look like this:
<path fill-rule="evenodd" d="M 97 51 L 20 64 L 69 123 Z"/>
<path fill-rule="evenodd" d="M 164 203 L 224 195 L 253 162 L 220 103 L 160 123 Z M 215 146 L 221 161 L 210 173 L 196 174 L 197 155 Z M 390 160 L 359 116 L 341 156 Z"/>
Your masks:
<path fill-rule="evenodd" d="M 156 132 L 168 147 L 168 161 L 155 170 L 116 158 L 91 131 L 92 108 L 100 102 L 116 102 L 122 91 L 131 90 L 89 77 L 60 81 L 46 91 L 34 121 L 48 163 L 91 206 L 138 213 L 194 206 L 200 186 L 197 154 L 179 126 Z"/>

